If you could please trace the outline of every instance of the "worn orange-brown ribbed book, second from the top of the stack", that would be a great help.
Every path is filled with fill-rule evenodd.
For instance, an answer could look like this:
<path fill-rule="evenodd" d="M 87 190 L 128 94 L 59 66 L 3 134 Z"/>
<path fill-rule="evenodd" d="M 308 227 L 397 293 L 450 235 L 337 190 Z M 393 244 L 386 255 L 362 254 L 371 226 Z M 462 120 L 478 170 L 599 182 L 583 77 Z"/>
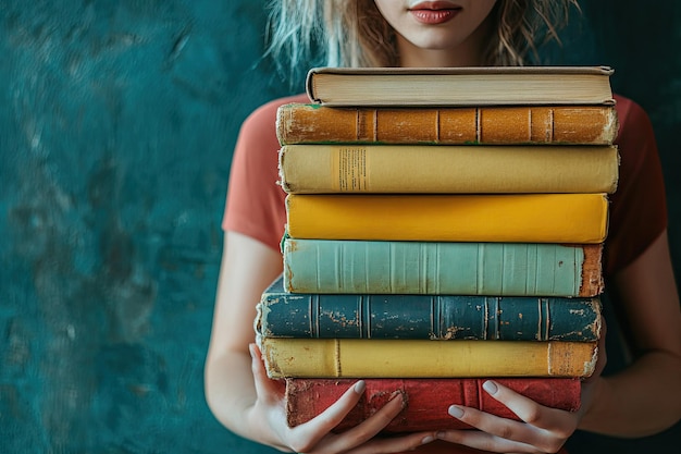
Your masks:
<path fill-rule="evenodd" d="M 329 108 L 290 103 L 277 111 L 280 143 L 611 145 L 612 106 Z"/>

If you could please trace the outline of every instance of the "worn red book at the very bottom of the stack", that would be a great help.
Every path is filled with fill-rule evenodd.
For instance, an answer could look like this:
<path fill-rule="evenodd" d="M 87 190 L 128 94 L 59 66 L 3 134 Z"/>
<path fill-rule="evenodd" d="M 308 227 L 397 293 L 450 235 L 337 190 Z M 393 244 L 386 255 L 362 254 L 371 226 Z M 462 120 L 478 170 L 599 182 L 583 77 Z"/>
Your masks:
<path fill-rule="evenodd" d="M 406 395 L 407 407 L 384 429 L 385 432 L 470 429 L 448 415 L 451 404 L 480 408 L 493 415 L 518 420 L 506 406 L 483 389 L 487 379 L 367 379 L 359 403 L 335 428 L 342 432 L 373 415 L 396 392 Z M 574 412 L 580 406 L 580 380 L 572 378 L 499 378 L 496 382 L 542 405 Z M 304 424 L 333 404 L 357 380 L 286 379 L 286 416 L 289 427 Z"/>

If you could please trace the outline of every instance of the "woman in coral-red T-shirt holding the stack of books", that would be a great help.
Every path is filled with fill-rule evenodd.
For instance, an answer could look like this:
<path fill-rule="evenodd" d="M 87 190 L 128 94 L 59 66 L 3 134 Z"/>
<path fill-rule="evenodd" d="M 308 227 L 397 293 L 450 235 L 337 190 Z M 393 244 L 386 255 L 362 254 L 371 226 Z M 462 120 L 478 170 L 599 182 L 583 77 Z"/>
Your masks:
<path fill-rule="evenodd" d="M 304 61 L 315 36 L 329 65 L 520 65 L 556 29 L 573 1 L 543 0 L 282 0 L 271 52 Z M 540 30 L 545 30 L 540 36 Z M 597 372 L 582 386 L 582 407 L 543 407 L 497 383 L 485 389 L 522 421 L 473 408 L 449 413 L 479 430 L 376 438 L 404 405 L 401 397 L 347 432 L 331 430 L 358 401 L 358 381 L 325 414 L 286 426 L 281 384 L 267 378 L 253 345 L 255 305 L 282 271 L 284 193 L 276 186 L 276 108 L 306 97 L 280 99 L 244 123 L 232 167 L 224 218 L 224 255 L 206 365 L 206 393 L 215 417 L 248 439 L 306 453 L 558 452 L 575 429 L 642 437 L 673 425 L 681 415 L 681 314 L 667 244 L 667 214 L 659 160 L 647 115 L 617 97 L 620 118 L 620 185 L 611 198 L 605 273 L 622 315 L 635 360 L 624 371 Z M 646 390 L 645 393 L 641 390 Z M 447 403 L 443 403 L 447 406 Z"/>

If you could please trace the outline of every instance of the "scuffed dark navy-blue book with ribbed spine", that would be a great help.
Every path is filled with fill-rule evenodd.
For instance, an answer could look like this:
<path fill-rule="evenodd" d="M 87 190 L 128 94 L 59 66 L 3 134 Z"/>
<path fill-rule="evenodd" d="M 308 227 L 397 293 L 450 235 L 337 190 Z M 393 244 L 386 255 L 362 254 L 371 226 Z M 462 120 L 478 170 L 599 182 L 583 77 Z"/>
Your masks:
<path fill-rule="evenodd" d="M 258 305 L 265 338 L 596 341 L 598 298 L 277 293 Z"/>

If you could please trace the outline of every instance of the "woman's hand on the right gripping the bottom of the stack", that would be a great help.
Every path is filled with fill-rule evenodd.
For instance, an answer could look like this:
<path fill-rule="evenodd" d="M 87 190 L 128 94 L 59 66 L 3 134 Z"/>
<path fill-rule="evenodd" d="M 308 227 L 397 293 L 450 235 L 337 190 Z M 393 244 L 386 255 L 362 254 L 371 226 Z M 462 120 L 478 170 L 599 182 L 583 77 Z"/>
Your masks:
<path fill-rule="evenodd" d="M 582 382 L 581 406 L 577 412 L 549 408 L 506 388 L 493 380 L 483 389 L 506 405 L 521 420 L 499 418 L 476 408 L 451 405 L 449 414 L 479 430 L 447 430 L 436 437 L 493 453 L 557 453 L 577 430 L 582 416 L 589 412 L 597 394 L 600 373 L 606 364 L 606 324 L 602 319 L 598 340 L 598 358 L 594 373 Z"/>

